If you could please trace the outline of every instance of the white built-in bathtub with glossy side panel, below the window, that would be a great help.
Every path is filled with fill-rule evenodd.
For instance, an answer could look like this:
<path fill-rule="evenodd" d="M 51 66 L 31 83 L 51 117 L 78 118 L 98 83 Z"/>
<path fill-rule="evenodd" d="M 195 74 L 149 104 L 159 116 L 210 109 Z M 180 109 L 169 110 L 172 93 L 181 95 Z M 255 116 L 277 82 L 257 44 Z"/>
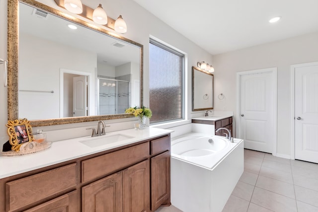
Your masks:
<path fill-rule="evenodd" d="M 243 140 L 189 133 L 171 140 L 171 204 L 222 212 L 244 169 Z"/>

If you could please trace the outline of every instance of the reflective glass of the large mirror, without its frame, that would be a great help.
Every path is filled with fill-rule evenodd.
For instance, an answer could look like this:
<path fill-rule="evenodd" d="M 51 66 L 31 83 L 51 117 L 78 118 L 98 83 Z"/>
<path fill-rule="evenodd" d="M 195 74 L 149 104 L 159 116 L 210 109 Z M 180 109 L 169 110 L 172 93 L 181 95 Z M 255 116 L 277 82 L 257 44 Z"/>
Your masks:
<path fill-rule="evenodd" d="M 139 47 L 19 6 L 19 117 L 121 114 L 139 105 L 130 89 L 140 84 Z"/>

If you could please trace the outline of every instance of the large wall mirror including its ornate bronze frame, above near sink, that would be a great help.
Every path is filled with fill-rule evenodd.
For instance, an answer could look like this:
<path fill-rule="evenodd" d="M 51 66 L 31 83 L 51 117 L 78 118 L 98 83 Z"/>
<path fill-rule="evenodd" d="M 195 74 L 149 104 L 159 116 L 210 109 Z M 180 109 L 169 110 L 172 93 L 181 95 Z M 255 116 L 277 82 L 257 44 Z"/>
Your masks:
<path fill-rule="evenodd" d="M 143 102 L 141 44 L 34 0 L 8 0 L 8 61 L 9 120 L 126 118 Z"/>

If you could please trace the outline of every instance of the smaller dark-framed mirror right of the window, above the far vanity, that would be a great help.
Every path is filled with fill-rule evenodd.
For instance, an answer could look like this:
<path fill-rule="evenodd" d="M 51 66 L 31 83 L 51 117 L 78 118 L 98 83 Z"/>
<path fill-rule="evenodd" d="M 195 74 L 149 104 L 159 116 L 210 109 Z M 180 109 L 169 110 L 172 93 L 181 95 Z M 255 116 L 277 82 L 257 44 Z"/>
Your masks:
<path fill-rule="evenodd" d="M 214 75 L 192 67 L 192 111 L 213 109 Z"/>

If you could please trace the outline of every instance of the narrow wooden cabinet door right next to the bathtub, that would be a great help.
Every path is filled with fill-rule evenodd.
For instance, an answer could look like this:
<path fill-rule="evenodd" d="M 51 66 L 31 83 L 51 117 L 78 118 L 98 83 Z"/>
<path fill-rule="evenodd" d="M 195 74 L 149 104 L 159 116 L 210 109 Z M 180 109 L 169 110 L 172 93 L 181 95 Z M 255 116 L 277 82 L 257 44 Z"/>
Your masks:
<path fill-rule="evenodd" d="M 170 151 L 151 158 L 151 210 L 170 204 Z"/>

